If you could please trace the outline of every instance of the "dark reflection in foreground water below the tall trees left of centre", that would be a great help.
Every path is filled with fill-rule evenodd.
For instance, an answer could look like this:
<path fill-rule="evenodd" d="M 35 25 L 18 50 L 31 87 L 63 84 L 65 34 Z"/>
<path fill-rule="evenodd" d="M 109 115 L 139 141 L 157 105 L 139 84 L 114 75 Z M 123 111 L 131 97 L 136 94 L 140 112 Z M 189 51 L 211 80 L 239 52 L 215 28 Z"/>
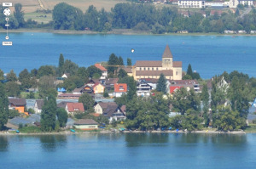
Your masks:
<path fill-rule="evenodd" d="M 66 135 L 41 135 L 39 139 L 45 151 L 55 151 L 56 147 L 65 147 L 67 144 Z"/>

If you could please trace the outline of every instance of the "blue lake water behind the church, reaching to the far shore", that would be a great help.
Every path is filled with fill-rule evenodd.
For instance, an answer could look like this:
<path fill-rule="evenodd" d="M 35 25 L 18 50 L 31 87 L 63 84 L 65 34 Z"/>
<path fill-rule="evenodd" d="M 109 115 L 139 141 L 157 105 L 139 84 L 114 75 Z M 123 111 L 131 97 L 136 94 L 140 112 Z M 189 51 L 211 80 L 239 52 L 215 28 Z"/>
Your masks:
<path fill-rule="evenodd" d="M 5 34 L 0 34 L 4 41 Z M 110 54 L 136 60 L 158 60 L 169 44 L 174 60 L 189 63 L 203 78 L 239 70 L 256 76 L 256 37 L 149 36 L 149 35 L 63 35 L 53 33 L 9 34 L 12 47 L 0 46 L 0 69 L 17 74 L 40 65 L 58 65 L 60 54 L 80 66 L 107 61 Z M 2 42 L 1 42 L 2 43 Z M 135 53 L 131 54 L 131 48 Z"/>

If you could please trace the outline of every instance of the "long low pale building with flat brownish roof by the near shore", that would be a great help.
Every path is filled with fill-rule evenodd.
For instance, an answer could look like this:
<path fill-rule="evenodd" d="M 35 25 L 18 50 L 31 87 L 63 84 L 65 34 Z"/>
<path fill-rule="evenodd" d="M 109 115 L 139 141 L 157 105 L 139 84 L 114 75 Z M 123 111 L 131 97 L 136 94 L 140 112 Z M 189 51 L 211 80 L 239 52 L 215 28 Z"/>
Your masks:
<path fill-rule="evenodd" d="M 81 130 L 97 130 L 98 129 L 98 123 L 92 119 L 80 119 L 79 121 L 75 121 L 73 126 Z"/>

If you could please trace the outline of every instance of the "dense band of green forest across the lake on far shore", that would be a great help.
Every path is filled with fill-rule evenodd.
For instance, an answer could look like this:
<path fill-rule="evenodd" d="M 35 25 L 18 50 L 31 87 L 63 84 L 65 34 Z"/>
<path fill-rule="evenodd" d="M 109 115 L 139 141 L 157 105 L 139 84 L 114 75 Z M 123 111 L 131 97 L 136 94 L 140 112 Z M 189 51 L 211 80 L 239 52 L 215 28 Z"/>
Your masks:
<path fill-rule="evenodd" d="M 0 6 L 2 10 L 3 7 Z M 20 3 L 15 4 L 14 16 L 9 18 L 9 28 L 52 28 L 55 30 L 77 30 L 107 32 L 112 29 L 132 29 L 135 31 L 151 31 L 155 34 L 166 32 L 189 31 L 189 32 L 218 32 L 224 30 L 240 31 L 247 33 L 256 30 L 256 9 L 253 8 L 249 14 L 241 17 L 240 5 L 236 13 L 218 12 L 211 13 L 208 8 L 179 11 L 175 7 L 155 7 L 152 4 L 143 3 L 118 3 L 111 12 L 104 8 L 97 10 L 90 6 L 83 12 L 67 3 L 55 5 L 52 11 L 53 21 L 49 24 L 38 24 L 33 20 L 24 20 L 24 13 Z M 225 10 L 226 11 L 226 10 Z M 50 12 L 50 11 L 47 11 Z M 203 16 L 206 15 L 206 17 Z M 4 26 L 3 14 L 0 14 L 0 25 Z"/>

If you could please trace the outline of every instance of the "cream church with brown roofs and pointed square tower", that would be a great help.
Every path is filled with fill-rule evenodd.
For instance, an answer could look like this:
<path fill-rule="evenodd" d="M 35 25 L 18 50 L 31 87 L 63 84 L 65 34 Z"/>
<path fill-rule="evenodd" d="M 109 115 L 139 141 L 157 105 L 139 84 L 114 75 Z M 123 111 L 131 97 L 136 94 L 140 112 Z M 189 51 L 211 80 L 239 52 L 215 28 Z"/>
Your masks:
<path fill-rule="evenodd" d="M 138 60 L 131 72 L 135 80 L 141 78 L 158 79 L 161 73 L 166 76 L 166 79 L 182 80 L 183 68 L 181 61 L 173 61 L 172 52 L 166 45 L 162 60 Z"/>

